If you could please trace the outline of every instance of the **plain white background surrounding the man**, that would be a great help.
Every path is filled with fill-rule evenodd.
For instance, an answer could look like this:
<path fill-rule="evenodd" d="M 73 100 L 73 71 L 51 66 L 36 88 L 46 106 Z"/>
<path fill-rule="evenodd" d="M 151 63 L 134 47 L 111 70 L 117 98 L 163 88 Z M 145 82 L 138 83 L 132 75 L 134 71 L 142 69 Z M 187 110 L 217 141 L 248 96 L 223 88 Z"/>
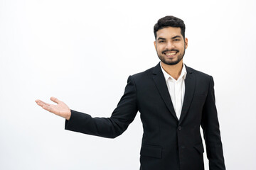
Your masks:
<path fill-rule="evenodd" d="M 64 130 L 63 118 L 34 101 L 55 96 L 109 117 L 129 75 L 159 62 L 153 26 L 167 15 L 186 23 L 184 62 L 215 80 L 227 169 L 256 169 L 255 7 L 253 0 L 0 0 L 0 169 L 139 169 L 139 113 L 111 140 Z"/>

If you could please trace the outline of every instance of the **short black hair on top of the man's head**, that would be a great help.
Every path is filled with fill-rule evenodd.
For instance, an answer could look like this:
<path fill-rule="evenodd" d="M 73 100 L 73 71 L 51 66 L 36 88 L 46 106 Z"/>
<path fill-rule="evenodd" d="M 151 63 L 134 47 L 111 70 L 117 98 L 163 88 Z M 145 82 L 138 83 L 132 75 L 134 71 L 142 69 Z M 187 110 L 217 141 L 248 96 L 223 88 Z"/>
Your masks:
<path fill-rule="evenodd" d="M 159 21 L 154 25 L 154 35 L 156 38 L 156 32 L 162 28 L 166 27 L 177 27 L 181 28 L 181 35 L 185 39 L 185 23 L 175 16 L 165 16 L 164 18 L 160 18 Z"/>

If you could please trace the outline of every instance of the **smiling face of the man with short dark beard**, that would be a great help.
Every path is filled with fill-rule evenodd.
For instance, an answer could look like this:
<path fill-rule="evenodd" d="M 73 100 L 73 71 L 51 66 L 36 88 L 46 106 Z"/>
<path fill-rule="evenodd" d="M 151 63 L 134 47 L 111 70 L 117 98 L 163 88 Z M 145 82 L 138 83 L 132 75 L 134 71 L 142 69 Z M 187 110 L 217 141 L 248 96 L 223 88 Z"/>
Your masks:
<path fill-rule="evenodd" d="M 161 62 L 174 65 L 183 59 L 185 49 L 188 47 L 188 39 L 184 40 L 181 28 L 166 27 L 156 32 L 154 45 Z"/>

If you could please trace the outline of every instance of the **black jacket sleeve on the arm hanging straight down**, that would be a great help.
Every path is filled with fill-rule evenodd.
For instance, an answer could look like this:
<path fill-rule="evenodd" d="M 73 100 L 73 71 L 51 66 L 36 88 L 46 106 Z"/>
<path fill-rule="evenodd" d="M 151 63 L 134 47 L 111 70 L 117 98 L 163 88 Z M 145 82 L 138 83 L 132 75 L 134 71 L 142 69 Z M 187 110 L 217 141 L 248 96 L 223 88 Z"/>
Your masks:
<path fill-rule="evenodd" d="M 201 126 L 203 128 L 203 137 L 206 142 L 206 152 L 210 170 L 225 170 L 223 147 L 220 139 L 220 128 L 217 109 L 215 106 L 213 86 L 213 77 L 210 77 L 208 95 L 206 97 L 206 103 L 203 106 Z"/>

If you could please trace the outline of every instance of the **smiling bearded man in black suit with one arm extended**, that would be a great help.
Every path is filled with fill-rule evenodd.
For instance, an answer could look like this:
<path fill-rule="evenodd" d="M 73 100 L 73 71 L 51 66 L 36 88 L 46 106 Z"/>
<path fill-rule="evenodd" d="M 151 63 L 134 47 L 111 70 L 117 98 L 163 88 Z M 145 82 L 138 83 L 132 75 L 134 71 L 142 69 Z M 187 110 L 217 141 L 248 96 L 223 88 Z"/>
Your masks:
<path fill-rule="evenodd" d="M 92 118 L 70 110 L 57 98 L 57 105 L 37 100 L 42 108 L 65 118 L 65 129 L 114 138 L 141 114 L 144 128 L 142 170 L 201 170 L 206 142 L 210 170 L 225 169 L 213 77 L 183 64 L 188 47 L 185 24 L 166 16 L 154 26 L 154 46 L 161 62 L 130 76 L 124 95 L 110 118 Z"/>

